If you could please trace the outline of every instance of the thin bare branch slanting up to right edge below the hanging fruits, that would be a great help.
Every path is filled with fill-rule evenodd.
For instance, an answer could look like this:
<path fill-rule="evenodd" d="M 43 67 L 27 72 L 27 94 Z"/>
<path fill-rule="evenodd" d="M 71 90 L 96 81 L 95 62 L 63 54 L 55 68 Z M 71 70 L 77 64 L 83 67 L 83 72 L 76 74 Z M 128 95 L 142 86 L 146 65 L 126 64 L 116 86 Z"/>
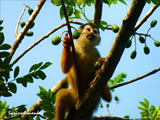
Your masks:
<path fill-rule="evenodd" d="M 152 75 L 152 74 L 155 74 L 155 73 L 158 72 L 158 71 L 160 71 L 160 68 L 157 68 L 157 69 L 155 69 L 155 70 L 153 70 L 153 71 L 151 71 L 151 72 L 149 72 L 149 73 L 147 73 L 147 74 L 144 74 L 144 75 L 142 75 L 142 76 L 140 76 L 140 77 L 137 77 L 137 78 L 135 78 L 135 79 L 132 79 L 132 80 L 129 80 L 129 81 L 127 81 L 127 82 L 121 83 L 121 84 L 119 84 L 119 85 L 110 87 L 110 89 L 112 90 L 112 89 L 115 89 L 115 88 L 118 88 L 118 87 L 121 87 L 121 86 L 130 84 L 130 83 L 136 82 L 136 81 L 138 81 L 138 80 L 140 80 L 140 79 L 143 79 L 143 78 L 148 77 L 148 76 L 150 76 L 150 75 Z"/>

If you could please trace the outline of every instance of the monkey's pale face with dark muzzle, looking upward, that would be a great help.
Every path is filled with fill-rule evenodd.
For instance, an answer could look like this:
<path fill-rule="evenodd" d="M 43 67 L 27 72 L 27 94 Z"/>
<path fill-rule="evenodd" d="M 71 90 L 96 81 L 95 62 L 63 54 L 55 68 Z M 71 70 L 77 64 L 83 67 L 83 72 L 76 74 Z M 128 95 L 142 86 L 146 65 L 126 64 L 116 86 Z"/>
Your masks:
<path fill-rule="evenodd" d="M 83 45 L 98 45 L 100 42 L 99 31 L 97 28 L 93 28 L 90 25 L 86 25 L 83 29 L 80 29 L 80 37 L 77 40 Z"/>

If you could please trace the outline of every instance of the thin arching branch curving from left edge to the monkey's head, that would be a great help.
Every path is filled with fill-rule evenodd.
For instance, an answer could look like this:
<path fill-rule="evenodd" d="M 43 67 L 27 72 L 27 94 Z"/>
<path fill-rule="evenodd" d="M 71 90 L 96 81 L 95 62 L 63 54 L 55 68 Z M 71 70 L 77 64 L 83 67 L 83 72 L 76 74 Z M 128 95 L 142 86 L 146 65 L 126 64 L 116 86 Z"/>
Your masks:
<path fill-rule="evenodd" d="M 70 23 L 74 23 L 74 24 L 79 24 L 82 25 L 81 22 L 76 22 L 76 21 L 70 21 Z M 44 35 L 42 38 L 40 38 L 38 41 L 36 41 L 35 43 L 33 43 L 29 48 L 27 48 L 22 54 L 20 54 L 12 63 L 11 65 L 13 66 L 15 63 L 17 63 L 27 52 L 29 52 L 33 47 L 35 47 L 36 45 L 38 45 L 40 42 L 42 42 L 44 39 L 48 38 L 51 34 L 53 34 L 54 32 L 56 32 L 57 30 L 59 30 L 60 28 L 64 27 L 65 25 L 67 25 L 66 23 L 58 26 L 57 28 L 54 28 L 53 30 L 51 30 L 50 32 L 48 32 L 46 35 Z"/>

